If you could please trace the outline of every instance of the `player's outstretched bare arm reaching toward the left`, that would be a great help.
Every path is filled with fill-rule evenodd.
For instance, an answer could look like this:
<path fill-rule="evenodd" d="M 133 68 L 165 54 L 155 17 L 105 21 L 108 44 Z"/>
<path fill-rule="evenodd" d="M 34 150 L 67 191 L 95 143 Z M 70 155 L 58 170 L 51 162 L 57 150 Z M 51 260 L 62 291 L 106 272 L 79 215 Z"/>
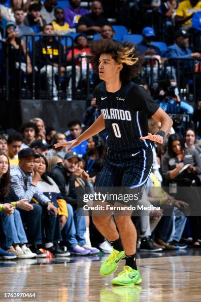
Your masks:
<path fill-rule="evenodd" d="M 78 136 L 78 138 L 76 138 L 75 140 L 69 141 L 69 142 L 65 141 L 65 142 L 57 143 L 54 145 L 54 147 L 58 148 L 58 147 L 62 147 L 62 146 L 63 147 L 68 146 L 67 151 L 69 151 L 73 147 L 78 146 L 83 141 L 88 140 L 90 137 L 99 133 L 104 128 L 105 128 L 104 119 L 103 119 L 102 114 L 100 114 L 100 116 L 95 120 L 95 122 L 86 131 L 84 131 L 80 136 Z"/>

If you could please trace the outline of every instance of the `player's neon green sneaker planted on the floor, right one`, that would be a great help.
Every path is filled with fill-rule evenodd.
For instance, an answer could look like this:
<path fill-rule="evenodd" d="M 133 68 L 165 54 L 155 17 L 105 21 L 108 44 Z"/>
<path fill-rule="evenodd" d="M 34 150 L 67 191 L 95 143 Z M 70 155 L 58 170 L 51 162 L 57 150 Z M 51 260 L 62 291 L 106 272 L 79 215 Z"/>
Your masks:
<path fill-rule="evenodd" d="M 142 282 L 139 270 L 133 269 L 131 266 L 125 265 L 116 278 L 112 280 L 113 285 L 133 285 Z"/>

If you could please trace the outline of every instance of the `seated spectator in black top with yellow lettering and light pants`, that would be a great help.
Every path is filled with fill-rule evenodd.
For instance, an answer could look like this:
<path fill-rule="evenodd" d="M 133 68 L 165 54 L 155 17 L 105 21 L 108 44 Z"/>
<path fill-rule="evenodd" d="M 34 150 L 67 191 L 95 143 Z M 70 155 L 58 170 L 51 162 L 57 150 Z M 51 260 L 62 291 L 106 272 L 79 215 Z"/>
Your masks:
<path fill-rule="evenodd" d="M 54 28 L 52 24 L 47 24 L 44 26 L 43 35 L 54 35 Z M 48 51 L 46 51 L 48 49 Z M 66 72 L 66 59 L 64 55 L 63 45 L 57 41 L 55 37 L 42 37 L 35 42 L 35 64 L 41 75 L 47 77 L 47 84 L 49 94 L 53 95 L 54 101 L 58 101 L 58 91 L 55 82 L 55 75 L 58 74 L 59 67 L 59 49 L 61 54 L 61 67 L 60 72 Z M 71 67 L 71 66 L 69 66 Z"/>

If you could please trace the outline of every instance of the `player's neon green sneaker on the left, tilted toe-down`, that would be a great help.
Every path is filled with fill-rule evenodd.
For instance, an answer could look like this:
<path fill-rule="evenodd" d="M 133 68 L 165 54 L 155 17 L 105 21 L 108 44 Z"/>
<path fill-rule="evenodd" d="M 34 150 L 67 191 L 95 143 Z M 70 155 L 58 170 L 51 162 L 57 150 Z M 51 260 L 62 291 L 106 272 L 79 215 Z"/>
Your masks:
<path fill-rule="evenodd" d="M 119 252 L 114 248 L 112 249 L 113 249 L 112 253 L 107 257 L 107 259 L 100 266 L 100 275 L 102 276 L 108 276 L 111 273 L 113 273 L 117 269 L 119 265 L 119 261 L 125 257 L 124 251 Z"/>

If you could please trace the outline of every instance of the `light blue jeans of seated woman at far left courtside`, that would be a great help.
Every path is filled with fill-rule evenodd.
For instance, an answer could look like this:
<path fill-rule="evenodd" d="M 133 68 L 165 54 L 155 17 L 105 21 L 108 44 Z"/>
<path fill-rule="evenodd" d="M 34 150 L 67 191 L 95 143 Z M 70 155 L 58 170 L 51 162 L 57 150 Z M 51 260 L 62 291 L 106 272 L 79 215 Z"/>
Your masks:
<path fill-rule="evenodd" d="M 2 229 L 5 234 L 5 248 L 9 248 L 13 243 L 27 243 L 27 236 L 22 224 L 18 210 L 14 210 L 11 215 L 1 213 Z"/>

